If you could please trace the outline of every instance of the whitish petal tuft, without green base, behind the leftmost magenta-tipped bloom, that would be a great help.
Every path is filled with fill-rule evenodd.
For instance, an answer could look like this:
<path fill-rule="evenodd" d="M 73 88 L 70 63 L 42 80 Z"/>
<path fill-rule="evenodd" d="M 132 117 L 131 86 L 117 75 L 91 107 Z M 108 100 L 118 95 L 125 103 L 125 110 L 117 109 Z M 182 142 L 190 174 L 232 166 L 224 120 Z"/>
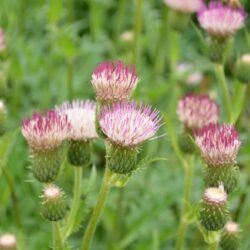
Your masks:
<path fill-rule="evenodd" d="M 71 125 L 68 139 L 89 141 L 98 137 L 95 129 L 95 109 L 95 102 L 90 100 L 65 102 L 56 107 L 57 112 L 68 117 Z"/>

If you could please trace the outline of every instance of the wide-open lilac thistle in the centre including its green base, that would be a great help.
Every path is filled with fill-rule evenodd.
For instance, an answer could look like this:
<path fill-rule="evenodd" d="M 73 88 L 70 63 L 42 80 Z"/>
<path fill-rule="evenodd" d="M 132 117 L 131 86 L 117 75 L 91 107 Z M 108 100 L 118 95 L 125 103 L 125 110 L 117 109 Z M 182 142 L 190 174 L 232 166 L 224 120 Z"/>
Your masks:
<path fill-rule="evenodd" d="M 160 121 L 157 110 L 135 102 L 103 107 L 100 127 L 109 142 L 108 166 L 111 171 L 128 174 L 136 168 L 137 148 L 155 135 Z"/>

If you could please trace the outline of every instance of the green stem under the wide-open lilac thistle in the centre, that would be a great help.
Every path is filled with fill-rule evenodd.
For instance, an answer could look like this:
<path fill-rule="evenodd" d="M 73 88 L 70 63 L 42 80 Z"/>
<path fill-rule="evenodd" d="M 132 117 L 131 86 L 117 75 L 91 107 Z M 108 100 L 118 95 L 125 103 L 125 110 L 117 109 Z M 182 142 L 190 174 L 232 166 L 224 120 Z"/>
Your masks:
<path fill-rule="evenodd" d="M 97 223 L 99 221 L 99 218 L 101 216 L 106 198 L 107 198 L 107 194 L 110 188 L 110 176 L 111 176 L 111 172 L 108 168 L 108 166 L 106 166 L 105 168 L 105 174 L 102 180 L 102 186 L 101 186 L 101 190 L 97 199 L 97 203 L 95 205 L 94 211 L 91 215 L 89 224 L 87 226 L 87 229 L 85 231 L 84 237 L 83 237 L 83 243 L 81 246 L 81 250 L 88 250 L 90 248 L 94 233 L 95 233 L 95 229 L 97 226 Z"/>

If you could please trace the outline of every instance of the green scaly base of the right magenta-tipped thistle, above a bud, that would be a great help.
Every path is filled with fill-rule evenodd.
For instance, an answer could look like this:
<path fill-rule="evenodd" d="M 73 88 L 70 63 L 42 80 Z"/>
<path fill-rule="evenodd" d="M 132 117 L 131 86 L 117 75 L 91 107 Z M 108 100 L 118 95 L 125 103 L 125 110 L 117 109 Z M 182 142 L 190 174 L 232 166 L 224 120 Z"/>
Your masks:
<path fill-rule="evenodd" d="M 218 187 L 223 183 L 227 193 L 231 193 L 239 182 L 239 168 L 237 166 L 206 166 L 204 181 L 207 187 Z"/>

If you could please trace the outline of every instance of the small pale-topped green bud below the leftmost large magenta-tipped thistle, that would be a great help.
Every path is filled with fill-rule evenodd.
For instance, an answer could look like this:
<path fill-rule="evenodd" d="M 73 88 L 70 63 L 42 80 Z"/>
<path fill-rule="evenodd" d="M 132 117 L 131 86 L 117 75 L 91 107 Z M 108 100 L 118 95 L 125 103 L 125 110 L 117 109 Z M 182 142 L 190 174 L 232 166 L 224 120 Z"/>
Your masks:
<path fill-rule="evenodd" d="M 59 187 L 51 184 L 44 188 L 41 202 L 41 213 L 48 221 L 58 221 L 65 217 L 65 194 Z"/>

